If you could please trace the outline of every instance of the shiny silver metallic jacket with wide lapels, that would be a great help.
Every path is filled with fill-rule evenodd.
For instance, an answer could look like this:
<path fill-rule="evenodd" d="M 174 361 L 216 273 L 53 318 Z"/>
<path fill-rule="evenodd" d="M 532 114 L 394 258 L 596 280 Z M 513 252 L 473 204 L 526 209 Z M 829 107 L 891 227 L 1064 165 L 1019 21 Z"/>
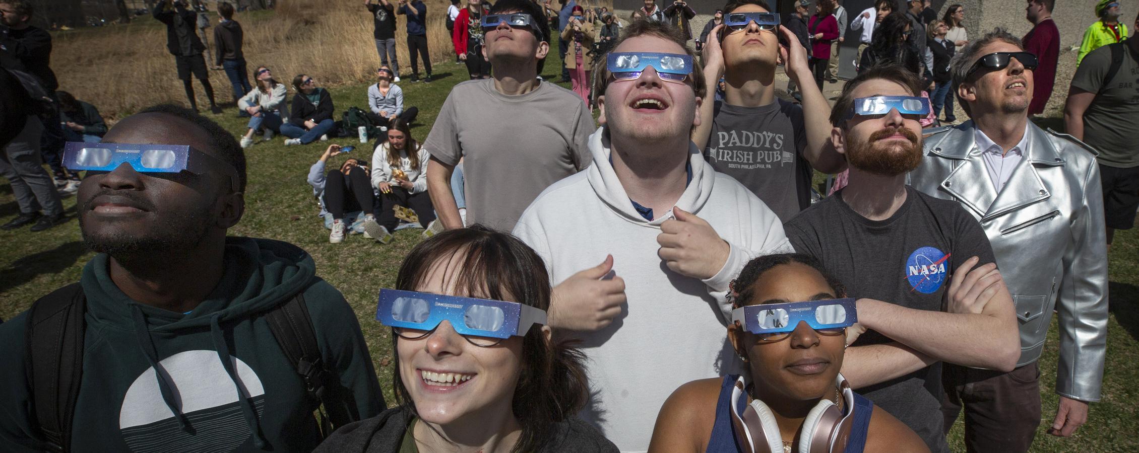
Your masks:
<path fill-rule="evenodd" d="M 921 165 L 907 183 L 959 201 L 981 222 L 1016 303 L 1017 365 L 1040 359 L 1055 307 L 1056 393 L 1098 402 L 1107 341 L 1107 239 L 1097 153 L 1032 122 L 1027 133 L 1027 149 L 1000 193 L 972 121 L 926 138 Z"/>

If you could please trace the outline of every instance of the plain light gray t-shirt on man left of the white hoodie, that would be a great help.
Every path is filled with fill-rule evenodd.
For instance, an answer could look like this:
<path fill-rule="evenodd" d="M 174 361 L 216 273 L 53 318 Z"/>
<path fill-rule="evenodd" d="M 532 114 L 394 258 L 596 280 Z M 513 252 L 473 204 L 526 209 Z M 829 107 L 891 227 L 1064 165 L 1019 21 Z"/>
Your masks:
<path fill-rule="evenodd" d="M 493 79 L 473 80 L 448 94 L 424 148 L 449 165 L 464 158 L 467 224 L 510 232 L 542 190 L 593 162 L 595 129 L 573 91 L 542 82 L 506 96 Z"/>

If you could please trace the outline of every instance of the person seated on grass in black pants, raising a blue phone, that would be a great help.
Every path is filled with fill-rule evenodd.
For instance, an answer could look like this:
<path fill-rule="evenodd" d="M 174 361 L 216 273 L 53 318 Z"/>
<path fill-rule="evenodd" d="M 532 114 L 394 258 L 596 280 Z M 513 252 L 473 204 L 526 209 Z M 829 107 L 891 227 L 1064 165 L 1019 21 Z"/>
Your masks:
<path fill-rule="evenodd" d="M 339 168 L 328 171 L 327 175 L 325 173 L 328 158 L 341 154 L 342 148 L 339 145 L 329 145 L 320 159 L 309 168 L 309 186 L 312 186 L 312 193 L 320 203 L 320 215 L 325 217 L 325 225 L 333 230 L 328 236 L 331 244 L 344 241 L 349 228 L 345 219 L 355 220 L 361 213 L 363 219 L 353 222 L 352 231 L 362 229 L 366 238 L 372 238 L 369 232 L 378 231 L 375 228 L 376 193 L 368 183 L 368 162 L 350 157 Z M 345 213 L 352 215 L 345 216 Z M 328 222 L 329 219 L 331 222 Z M 372 225 L 370 231 L 369 223 Z M 391 240 L 391 237 L 377 238 L 384 244 Z"/>

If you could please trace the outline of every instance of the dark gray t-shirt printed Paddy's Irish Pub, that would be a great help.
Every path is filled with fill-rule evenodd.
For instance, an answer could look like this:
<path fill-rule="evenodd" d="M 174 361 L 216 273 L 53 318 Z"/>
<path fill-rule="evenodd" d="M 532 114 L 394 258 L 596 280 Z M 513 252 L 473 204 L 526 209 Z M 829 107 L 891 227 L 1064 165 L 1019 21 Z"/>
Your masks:
<path fill-rule="evenodd" d="M 803 107 L 777 98 L 762 107 L 718 101 L 714 108 L 704 159 L 755 193 L 780 222 L 810 206 Z"/>

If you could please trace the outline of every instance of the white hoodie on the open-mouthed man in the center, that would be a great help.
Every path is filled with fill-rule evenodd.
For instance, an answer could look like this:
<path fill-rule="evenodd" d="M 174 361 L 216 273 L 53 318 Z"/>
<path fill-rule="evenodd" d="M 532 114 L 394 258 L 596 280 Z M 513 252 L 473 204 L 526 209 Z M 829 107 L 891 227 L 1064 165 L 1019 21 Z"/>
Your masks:
<path fill-rule="evenodd" d="M 740 371 L 726 328 L 728 283 L 751 258 L 793 249 L 779 217 L 689 145 L 693 179 L 677 206 L 707 221 L 731 252 L 711 279 L 672 272 L 656 242 L 672 212 L 652 222 L 637 213 L 609 163 L 605 135 L 603 126 L 589 138 L 593 165 L 539 195 L 514 234 L 542 256 L 554 285 L 613 255 L 629 302 L 605 329 L 574 335 L 589 356 L 593 393 L 581 415 L 622 452 L 645 452 L 656 414 L 677 387 Z"/>

